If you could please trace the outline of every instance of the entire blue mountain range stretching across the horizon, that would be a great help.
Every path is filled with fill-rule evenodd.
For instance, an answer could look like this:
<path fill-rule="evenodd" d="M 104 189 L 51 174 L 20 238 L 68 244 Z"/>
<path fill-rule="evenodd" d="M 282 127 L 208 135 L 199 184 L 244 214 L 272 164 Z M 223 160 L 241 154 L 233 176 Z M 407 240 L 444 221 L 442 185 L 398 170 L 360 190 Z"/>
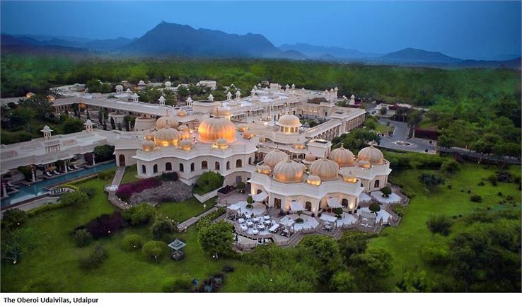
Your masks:
<path fill-rule="evenodd" d="M 162 21 L 141 37 L 90 40 L 83 37 L 53 35 L 1 35 L 3 52 L 109 54 L 131 57 L 218 57 L 276 58 L 325 62 L 358 62 L 440 67 L 507 67 L 520 69 L 520 57 L 501 60 L 473 60 L 450 57 L 441 52 L 406 48 L 387 54 L 363 52 L 342 47 L 314 46 L 305 43 L 279 47 L 261 34 L 229 34 L 219 30 L 195 29 L 190 25 Z"/>

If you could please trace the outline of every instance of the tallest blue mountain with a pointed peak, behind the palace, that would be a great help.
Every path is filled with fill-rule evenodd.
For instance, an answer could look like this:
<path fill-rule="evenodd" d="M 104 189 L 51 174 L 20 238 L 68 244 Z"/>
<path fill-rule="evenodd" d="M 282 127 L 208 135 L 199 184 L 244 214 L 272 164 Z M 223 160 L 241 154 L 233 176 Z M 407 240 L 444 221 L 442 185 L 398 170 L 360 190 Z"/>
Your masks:
<path fill-rule="evenodd" d="M 164 21 L 117 51 L 136 55 L 192 57 L 304 57 L 296 51 L 282 52 L 260 34 L 237 35 L 218 30 L 196 30 L 190 25 Z"/>

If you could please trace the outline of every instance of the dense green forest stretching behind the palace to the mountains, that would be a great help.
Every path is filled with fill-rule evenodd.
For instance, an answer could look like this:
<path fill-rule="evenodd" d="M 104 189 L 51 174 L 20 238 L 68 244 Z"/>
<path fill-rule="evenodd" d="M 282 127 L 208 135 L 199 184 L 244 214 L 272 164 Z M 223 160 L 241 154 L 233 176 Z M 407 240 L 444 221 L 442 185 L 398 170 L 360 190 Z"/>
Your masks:
<path fill-rule="evenodd" d="M 267 59 L 115 59 L 1 57 L 1 95 L 16 97 L 29 91 L 45 94 L 51 86 L 88 83 L 93 79 L 137 83 L 167 81 L 194 84 L 199 80 L 235 84 L 240 91 L 262 80 L 297 88 L 339 88 L 340 95 L 410 103 L 429 108 L 409 112 L 414 126 L 436 129 L 439 146 L 470 148 L 483 154 L 520 156 L 521 71 L 512 69 L 434 69 L 364 66 Z M 221 96 L 224 93 L 216 93 Z M 142 92 L 140 96 L 158 93 Z M 214 95 L 214 96 L 216 96 Z M 168 97 L 168 104 L 174 103 Z"/>

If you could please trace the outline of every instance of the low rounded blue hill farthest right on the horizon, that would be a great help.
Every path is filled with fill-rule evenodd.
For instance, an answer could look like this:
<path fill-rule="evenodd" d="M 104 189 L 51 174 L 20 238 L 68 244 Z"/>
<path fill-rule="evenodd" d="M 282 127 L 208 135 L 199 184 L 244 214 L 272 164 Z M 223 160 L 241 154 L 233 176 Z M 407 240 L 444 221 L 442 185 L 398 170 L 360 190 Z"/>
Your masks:
<path fill-rule="evenodd" d="M 458 63 L 463 59 L 450 57 L 441 52 L 406 48 L 377 57 L 376 60 L 391 63 Z"/>

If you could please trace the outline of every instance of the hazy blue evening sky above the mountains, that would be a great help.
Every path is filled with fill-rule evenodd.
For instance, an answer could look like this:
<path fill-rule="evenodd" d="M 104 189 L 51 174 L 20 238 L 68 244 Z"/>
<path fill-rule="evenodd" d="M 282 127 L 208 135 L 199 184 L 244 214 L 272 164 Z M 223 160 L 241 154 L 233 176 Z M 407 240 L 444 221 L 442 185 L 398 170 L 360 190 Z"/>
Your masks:
<path fill-rule="evenodd" d="M 366 52 L 521 53 L 521 2 L 1 1 L 1 32 L 139 37 L 160 21 Z"/>

